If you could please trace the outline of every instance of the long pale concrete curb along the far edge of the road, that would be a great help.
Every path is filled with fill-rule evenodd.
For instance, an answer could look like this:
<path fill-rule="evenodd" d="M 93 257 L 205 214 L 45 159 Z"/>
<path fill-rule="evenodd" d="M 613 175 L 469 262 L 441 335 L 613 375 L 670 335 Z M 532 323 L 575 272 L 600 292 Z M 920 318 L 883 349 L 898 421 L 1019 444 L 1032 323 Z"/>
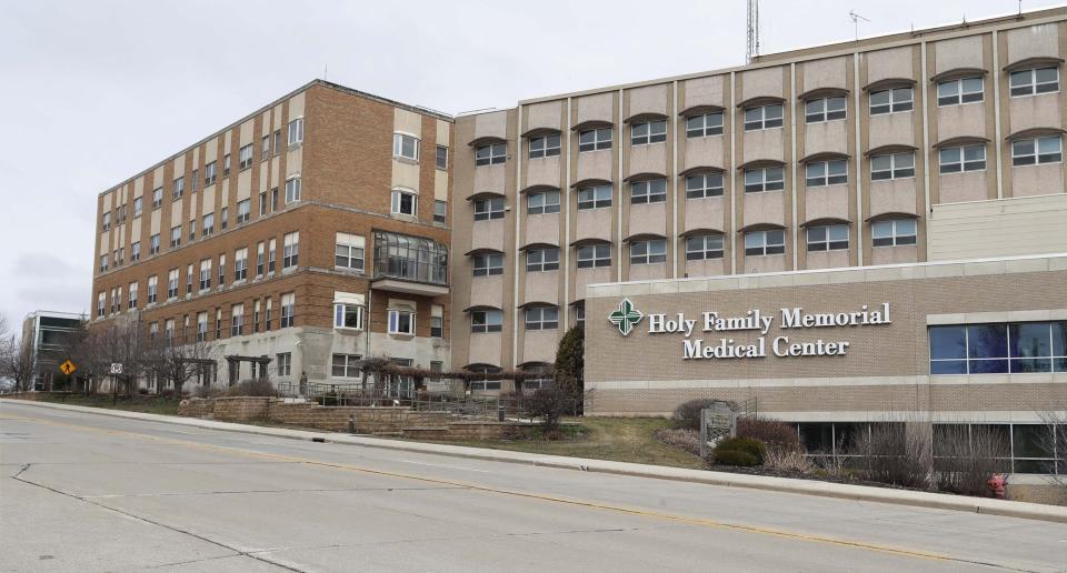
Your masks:
<path fill-rule="evenodd" d="M 652 478 L 657 480 L 672 480 L 692 483 L 702 483 L 708 485 L 720 485 L 728 487 L 747 487 L 754 490 L 765 490 L 786 493 L 798 493 L 804 495 L 818 495 L 822 497 L 837 497 L 844 500 L 894 503 L 897 505 L 913 505 L 917 507 L 930 507 L 938 510 L 963 511 L 969 513 L 981 513 L 987 515 L 1001 515 L 1008 517 L 1019 517 L 1025 520 L 1039 520 L 1057 523 L 1067 523 L 1067 507 L 1058 505 L 1041 505 L 1037 503 L 1016 502 L 1007 500 L 989 500 L 983 497 L 966 497 L 961 495 L 949 495 L 944 493 L 915 492 L 905 490 L 890 490 L 882 487 L 870 487 L 865 485 L 850 485 L 841 483 L 829 483 L 809 480 L 795 480 L 789 478 L 770 478 L 766 475 L 747 475 L 728 472 L 711 472 L 705 470 L 687 470 L 682 468 L 668 468 L 662 465 L 646 465 L 628 462 L 610 462 L 605 460 L 588 460 L 584 458 L 566 458 L 559 455 L 530 454 L 522 452 L 512 452 L 507 450 L 490 450 L 483 448 L 468 448 L 461 445 L 430 444 L 421 442 L 403 442 L 399 440 L 385 440 L 380 438 L 365 438 L 330 432 L 310 432 L 306 430 L 287 430 L 282 428 L 255 426 L 248 424 L 236 424 L 230 422 L 217 422 L 213 420 L 201 420 L 196 418 L 178 418 L 160 414 L 146 414 L 140 412 L 126 412 L 121 410 L 107 410 L 101 408 L 78 406 L 69 404 L 56 404 L 51 402 L 33 402 L 23 400 L 0 400 L 0 403 L 10 402 L 19 404 L 37 405 L 40 408 L 50 408 L 54 410 L 68 410 L 72 412 L 83 412 L 98 415 L 109 415 L 113 418 L 126 418 L 131 420 L 142 420 L 149 422 L 161 422 L 174 425 L 186 425 L 192 428 L 202 428 L 206 430 L 219 430 L 225 432 L 238 432 L 245 434 L 267 435 L 272 438 L 286 438 L 291 440 L 321 441 L 326 443 L 362 445 L 365 448 L 380 448 L 385 450 L 397 450 L 403 452 L 428 453 L 438 455 L 448 455 L 453 458 L 468 458 L 472 460 L 518 463 L 535 465 L 541 468 L 556 468 L 562 470 L 578 470 L 584 472 L 609 473 L 617 475 L 632 475 L 638 478 Z"/>

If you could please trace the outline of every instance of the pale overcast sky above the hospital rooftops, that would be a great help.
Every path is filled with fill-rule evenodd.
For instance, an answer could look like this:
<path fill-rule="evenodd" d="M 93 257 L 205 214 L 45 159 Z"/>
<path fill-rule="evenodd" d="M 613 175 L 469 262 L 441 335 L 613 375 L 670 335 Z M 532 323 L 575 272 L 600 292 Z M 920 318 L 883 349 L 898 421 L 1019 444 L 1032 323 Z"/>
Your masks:
<path fill-rule="evenodd" d="M 0 314 L 88 312 L 96 197 L 315 78 L 447 113 L 737 66 L 741 0 L 4 1 Z M 1023 3 L 1034 10 L 1054 2 Z M 656 8 L 655 17 L 646 17 Z M 1015 12 L 764 0 L 762 52 Z"/>

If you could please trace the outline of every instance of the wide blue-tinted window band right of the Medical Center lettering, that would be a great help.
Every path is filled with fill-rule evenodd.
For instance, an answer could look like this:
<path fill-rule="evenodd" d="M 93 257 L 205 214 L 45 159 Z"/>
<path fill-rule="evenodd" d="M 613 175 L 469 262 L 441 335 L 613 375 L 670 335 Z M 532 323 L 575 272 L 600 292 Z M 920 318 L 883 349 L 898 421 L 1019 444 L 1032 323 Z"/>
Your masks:
<path fill-rule="evenodd" d="M 930 326 L 930 374 L 1067 372 L 1067 322 Z"/>

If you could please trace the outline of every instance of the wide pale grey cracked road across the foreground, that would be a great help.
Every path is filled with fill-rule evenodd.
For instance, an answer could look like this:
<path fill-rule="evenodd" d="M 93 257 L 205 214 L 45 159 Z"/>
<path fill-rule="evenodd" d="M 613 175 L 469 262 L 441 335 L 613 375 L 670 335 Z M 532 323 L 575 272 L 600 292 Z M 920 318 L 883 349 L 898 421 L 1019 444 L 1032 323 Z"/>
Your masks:
<path fill-rule="evenodd" d="M 0 571 L 1067 571 L 1067 525 L 0 403 Z"/>

